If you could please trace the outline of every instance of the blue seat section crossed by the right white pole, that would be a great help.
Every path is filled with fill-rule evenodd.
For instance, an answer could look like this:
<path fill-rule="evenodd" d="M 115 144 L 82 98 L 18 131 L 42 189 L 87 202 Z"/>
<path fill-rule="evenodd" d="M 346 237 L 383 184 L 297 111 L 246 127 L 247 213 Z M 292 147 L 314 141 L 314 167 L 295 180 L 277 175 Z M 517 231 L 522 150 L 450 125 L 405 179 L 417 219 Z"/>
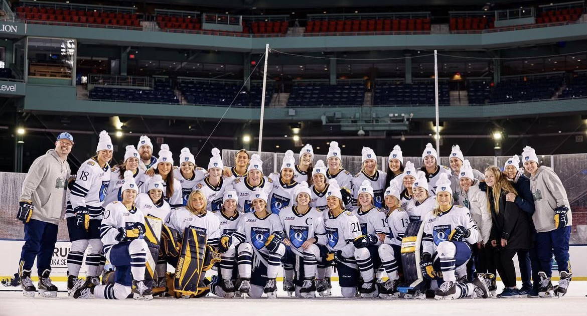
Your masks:
<path fill-rule="evenodd" d="M 439 105 L 449 105 L 448 84 L 438 83 L 440 98 Z M 377 82 L 375 85 L 375 97 L 373 105 L 422 105 L 434 104 L 434 83 L 417 82 L 406 83 L 384 83 Z"/>

